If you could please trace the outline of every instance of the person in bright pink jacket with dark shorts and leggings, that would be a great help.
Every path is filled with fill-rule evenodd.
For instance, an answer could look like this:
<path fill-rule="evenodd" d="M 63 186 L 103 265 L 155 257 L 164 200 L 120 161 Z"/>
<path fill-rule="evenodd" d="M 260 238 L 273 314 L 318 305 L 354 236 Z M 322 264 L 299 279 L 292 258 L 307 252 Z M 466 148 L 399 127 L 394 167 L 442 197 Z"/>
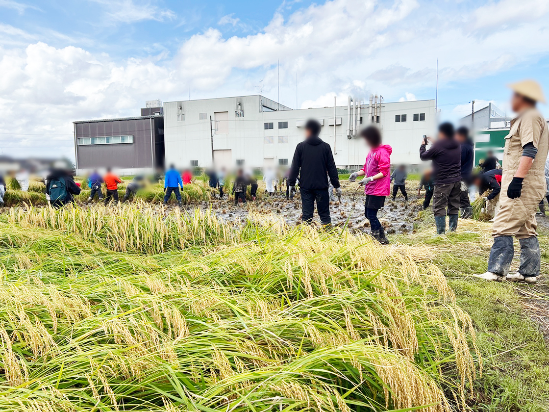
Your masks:
<path fill-rule="evenodd" d="M 380 243 L 388 244 L 385 230 L 379 221 L 377 214 L 385 204 L 385 198 L 389 196 L 391 186 L 391 148 L 388 144 L 382 144 L 381 132 L 376 126 L 368 126 L 360 135 L 365 138 L 370 152 L 366 156 L 366 163 L 362 170 L 349 176 L 351 182 L 355 182 L 358 176 L 366 176 L 360 181 L 364 186 L 366 202 L 364 204 L 366 218 L 372 227 L 372 236 Z"/>

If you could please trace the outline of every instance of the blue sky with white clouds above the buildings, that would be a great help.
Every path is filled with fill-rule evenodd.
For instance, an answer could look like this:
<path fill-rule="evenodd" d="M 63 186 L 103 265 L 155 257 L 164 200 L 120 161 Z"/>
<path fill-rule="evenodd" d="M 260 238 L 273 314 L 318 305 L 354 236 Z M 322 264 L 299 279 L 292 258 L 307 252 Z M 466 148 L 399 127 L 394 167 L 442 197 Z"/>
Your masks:
<path fill-rule="evenodd" d="M 438 96 L 455 121 L 509 82 L 549 97 L 548 70 L 547 0 L 0 0 L 0 155 L 74 159 L 73 121 L 260 82 L 291 108 Z"/>

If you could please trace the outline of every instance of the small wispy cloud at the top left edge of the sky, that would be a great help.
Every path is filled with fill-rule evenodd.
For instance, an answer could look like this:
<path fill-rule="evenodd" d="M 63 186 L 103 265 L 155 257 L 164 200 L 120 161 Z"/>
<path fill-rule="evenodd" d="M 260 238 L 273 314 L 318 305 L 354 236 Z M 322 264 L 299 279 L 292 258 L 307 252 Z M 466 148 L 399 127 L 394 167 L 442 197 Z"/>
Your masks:
<path fill-rule="evenodd" d="M 173 20 L 176 14 L 170 9 L 161 9 L 151 0 L 91 0 L 107 8 L 107 17 L 115 23 L 136 23 L 143 20 Z"/>

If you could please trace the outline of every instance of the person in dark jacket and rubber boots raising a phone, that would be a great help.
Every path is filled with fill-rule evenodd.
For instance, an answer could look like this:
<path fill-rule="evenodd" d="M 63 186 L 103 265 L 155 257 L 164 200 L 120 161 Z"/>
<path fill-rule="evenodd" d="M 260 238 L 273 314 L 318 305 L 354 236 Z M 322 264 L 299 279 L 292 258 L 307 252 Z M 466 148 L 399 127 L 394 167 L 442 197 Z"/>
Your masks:
<path fill-rule="evenodd" d="M 427 142 L 419 147 L 421 160 L 433 160 L 435 190 L 433 211 L 436 233 L 446 232 L 446 214 L 449 216 L 450 231 L 456 231 L 461 202 L 461 144 L 454 136 L 453 125 L 442 123 L 439 126 L 438 139 L 427 150 Z M 446 211 L 447 210 L 447 211 Z"/>

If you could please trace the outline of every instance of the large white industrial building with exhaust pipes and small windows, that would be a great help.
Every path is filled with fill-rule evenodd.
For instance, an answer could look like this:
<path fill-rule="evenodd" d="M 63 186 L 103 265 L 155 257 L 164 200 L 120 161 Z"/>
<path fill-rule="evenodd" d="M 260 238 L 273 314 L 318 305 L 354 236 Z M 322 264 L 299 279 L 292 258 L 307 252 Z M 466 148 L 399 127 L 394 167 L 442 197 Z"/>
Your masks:
<path fill-rule="evenodd" d="M 379 126 L 384 143 L 393 147 L 391 163 L 412 170 L 421 163 L 421 138 L 436 125 L 434 100 L 387 103 L 376 96 L 344 103 L 293 110 L 259 95 L 166 102 L 166 165 L 204 168 L 212 159 L 228 168 L 289 165 L 310 118 L 323 126 L 320 137 L 332 147 L 338 168 L 362 168 L 368 149 L 357 137 L 369 124 Z"/>

